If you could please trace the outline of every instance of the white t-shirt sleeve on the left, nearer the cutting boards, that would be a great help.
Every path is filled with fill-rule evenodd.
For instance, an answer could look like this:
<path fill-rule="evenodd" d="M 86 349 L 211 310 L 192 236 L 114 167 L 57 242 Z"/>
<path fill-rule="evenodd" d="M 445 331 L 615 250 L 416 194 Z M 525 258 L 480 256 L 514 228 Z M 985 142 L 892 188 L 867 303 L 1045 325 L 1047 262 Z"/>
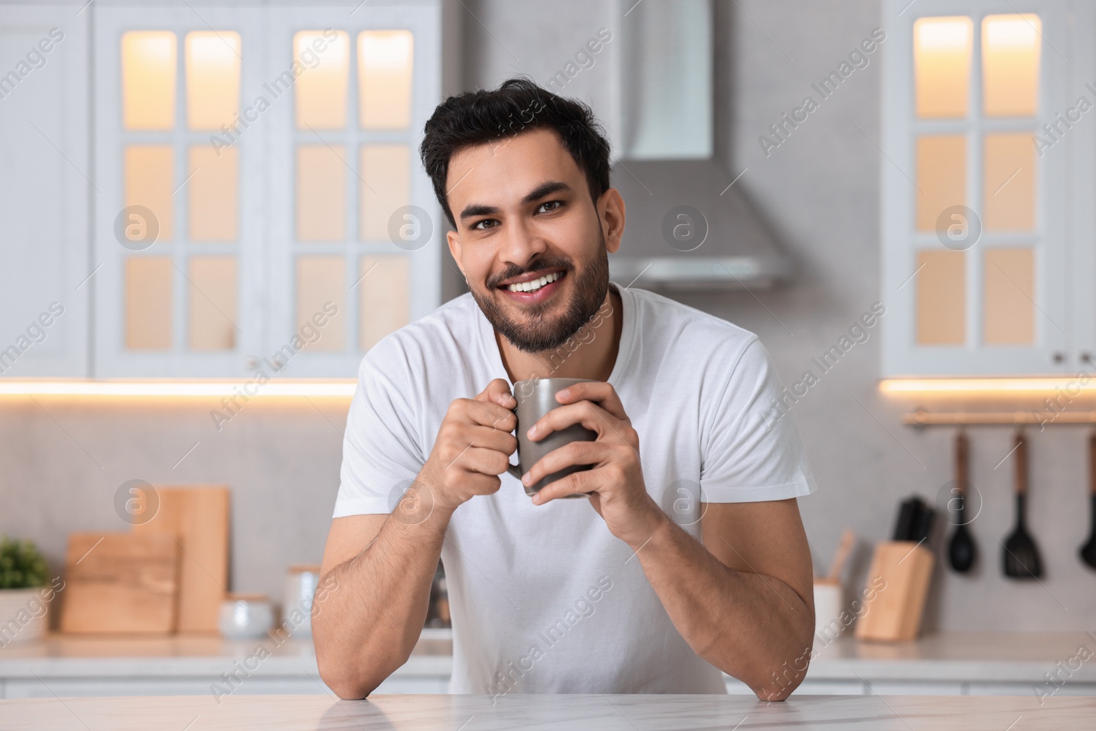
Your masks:
<path fill-rule="evenodd" d="M 362 359 L 357 390 L 346 415 L 343 461 L 334 517 L 391 513 L 422 469 L 410 399 L 407 359 L 395 339 L 375 345 Z M 400 387 L 400 384 L 403 387 Z"/>

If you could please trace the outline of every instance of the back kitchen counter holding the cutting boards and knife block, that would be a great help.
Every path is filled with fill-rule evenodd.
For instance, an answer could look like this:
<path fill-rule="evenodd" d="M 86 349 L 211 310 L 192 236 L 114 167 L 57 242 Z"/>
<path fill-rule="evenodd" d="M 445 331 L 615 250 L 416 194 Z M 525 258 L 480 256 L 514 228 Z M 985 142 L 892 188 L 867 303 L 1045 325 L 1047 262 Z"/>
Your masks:
<path fill-rule="evenodd" d="M 260 646 L 269 656 L 258 656 Z M 1080 648 L 1087 648 L 1088 660 L 1073 661 Z M 941 632 L 894 644 L 847 636 L 817 651 L 797 695 L 1096 696 L 1096 637 L 1086 632 Z M 450 630 L 424 630 L 408 662 L 377 692 L 445 693 L 452 652 Z M 732 694 L 751 693 L 729 676 L 727 685 Z M 52 635 L 0 649 L 3 698 L 327 692 L 310 640 Z"/>

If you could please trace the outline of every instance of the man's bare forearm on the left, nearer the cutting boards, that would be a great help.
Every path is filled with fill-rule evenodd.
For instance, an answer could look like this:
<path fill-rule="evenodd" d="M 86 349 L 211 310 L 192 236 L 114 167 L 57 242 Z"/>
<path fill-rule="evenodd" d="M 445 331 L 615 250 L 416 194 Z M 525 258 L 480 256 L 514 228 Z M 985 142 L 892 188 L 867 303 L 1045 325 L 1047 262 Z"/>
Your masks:
<path fill-rule="evenodd" d="M 401 503 L 402 505 L 402 503 Z M 342 698 L 363 698 L 402 665 L 422 631 L 452 511 L 396 511 L 376 539 L 332 569 L 339 591 L 312 620 L 316 659 Z"/>

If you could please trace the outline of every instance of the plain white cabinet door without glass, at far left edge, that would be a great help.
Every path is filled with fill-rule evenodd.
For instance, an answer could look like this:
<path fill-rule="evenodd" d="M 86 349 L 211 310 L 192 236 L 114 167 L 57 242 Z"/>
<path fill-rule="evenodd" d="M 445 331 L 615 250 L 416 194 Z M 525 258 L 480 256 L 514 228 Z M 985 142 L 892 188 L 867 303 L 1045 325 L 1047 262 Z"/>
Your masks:
<path fill-rule="evenodd" d="M 87 376 L 88 14 L 0 5 L 0 376 Z"/>

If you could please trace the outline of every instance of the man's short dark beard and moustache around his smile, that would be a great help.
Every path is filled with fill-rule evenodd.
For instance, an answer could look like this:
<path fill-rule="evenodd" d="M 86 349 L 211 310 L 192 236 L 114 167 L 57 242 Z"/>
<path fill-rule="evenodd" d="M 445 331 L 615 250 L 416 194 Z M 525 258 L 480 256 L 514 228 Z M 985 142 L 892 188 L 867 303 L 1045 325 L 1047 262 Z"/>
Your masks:
<path fill-rule="evenodd" d="M 601 227 L 598 227 L 598 233 L 601 235 L 598 254 L 581 272 L 575 273 L 574 262 L 570 258 L 541 256 L 529 262 L 525 267 L 514 265 L 499 276 L 492 277 L 491 282 L 488 283 L 487 293 L 476 292 L 476 287 L 469 283 L 468 288 L 471 290 L 472 298 L 479 305 L 491 327 L 501 333 L 511 345 L 524 353 L 553 351 L 566 343 L 594 317 L 608 294 L 609 258 L 605 249 L 605 232 L 601 230 Z M 491 293 L 498 292 L 498 283 L 529 272 L 557 267 L 566 271 L 564 282 L 573 279 L 571 301 L 567 304 L 562 315 L 550 318 L 547 316 L 547 311 L 556 307 L 557 302 L 538 302 L 525 308 L 523 320 L 515 320 L 507 317 L 503 308 L 495 304 L 494 297 L 500 295 Z"/>

